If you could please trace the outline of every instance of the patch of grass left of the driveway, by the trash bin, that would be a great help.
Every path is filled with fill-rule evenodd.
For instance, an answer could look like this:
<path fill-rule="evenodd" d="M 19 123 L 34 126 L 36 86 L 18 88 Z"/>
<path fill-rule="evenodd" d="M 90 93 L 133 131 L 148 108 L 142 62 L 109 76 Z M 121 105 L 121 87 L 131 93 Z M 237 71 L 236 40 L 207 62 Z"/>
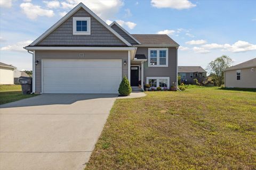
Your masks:
<path fill-rule="evenodd" d="M 22 95 L 21 85 L 0 85 L 0 105 L 37 95 Z"/>

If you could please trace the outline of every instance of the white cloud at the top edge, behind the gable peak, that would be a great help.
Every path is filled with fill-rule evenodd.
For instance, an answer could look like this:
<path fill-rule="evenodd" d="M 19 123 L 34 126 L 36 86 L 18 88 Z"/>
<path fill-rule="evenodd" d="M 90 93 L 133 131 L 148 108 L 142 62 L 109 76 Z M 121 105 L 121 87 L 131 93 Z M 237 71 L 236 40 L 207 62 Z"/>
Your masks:
<path fill-rule="evenodd" d="M 124 5 L 123 1 L 121 0 L 66 0 L 66 2 L 62 2 L 61 5 L 63 8 L 70 9 L 81 2 L 103 20 L 113 18 L 119 9 Z"/>

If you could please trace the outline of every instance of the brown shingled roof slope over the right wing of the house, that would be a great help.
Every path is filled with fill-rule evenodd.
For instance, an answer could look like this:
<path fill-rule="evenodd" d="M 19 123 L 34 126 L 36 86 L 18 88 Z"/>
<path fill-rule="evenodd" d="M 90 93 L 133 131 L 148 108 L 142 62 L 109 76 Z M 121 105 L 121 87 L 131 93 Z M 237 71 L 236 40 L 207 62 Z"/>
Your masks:
<path fill-rule="evenodd" d="M 132 34 L 133 37 L 138 39 L 141 45 L 135 46 L 166 46 L 166 47 L 179 47 L 169 36 L 161 34 Z"/>

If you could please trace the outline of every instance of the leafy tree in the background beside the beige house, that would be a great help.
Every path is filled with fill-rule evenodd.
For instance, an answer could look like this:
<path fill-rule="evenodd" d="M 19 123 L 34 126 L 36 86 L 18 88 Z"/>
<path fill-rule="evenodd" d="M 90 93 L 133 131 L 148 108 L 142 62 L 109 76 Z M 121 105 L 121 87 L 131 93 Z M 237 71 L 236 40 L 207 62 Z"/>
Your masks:
<path fill-rule="evenodd" d="M 212 74 L 212 77 L 216 80 L 218 86 L 221 86 L 224 70 L 230 67 L 232 62 L 233 61 L 229 56 L 222 55 L 208 64 L 207 70 L 210 71 L 210 74 Z"/>

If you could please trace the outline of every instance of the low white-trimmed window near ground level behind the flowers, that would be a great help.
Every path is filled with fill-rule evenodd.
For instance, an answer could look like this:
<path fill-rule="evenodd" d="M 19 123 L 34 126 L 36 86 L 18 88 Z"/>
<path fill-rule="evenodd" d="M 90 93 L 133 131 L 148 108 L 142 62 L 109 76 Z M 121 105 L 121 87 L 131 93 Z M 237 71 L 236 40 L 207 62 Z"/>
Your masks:
<path fill-rule="evenodd" d="M 169 88 L 170 87 L 170 78 L 169 77 L 147 77 L 147 84 L 150 87 L 156 89 L 157 87 Z"/>

